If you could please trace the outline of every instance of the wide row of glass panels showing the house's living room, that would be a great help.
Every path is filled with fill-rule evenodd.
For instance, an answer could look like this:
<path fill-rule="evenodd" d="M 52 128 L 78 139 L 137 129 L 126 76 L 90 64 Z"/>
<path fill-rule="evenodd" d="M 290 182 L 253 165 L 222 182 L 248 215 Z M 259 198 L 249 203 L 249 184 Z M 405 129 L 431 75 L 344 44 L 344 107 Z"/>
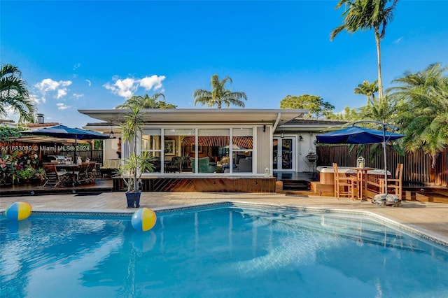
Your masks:
<path fill-rule="evenodd" d="M 252 128 L 144 129 L 141 150 L 158 157 L 156 172 L 252 173 L 253 171 Z"/>

